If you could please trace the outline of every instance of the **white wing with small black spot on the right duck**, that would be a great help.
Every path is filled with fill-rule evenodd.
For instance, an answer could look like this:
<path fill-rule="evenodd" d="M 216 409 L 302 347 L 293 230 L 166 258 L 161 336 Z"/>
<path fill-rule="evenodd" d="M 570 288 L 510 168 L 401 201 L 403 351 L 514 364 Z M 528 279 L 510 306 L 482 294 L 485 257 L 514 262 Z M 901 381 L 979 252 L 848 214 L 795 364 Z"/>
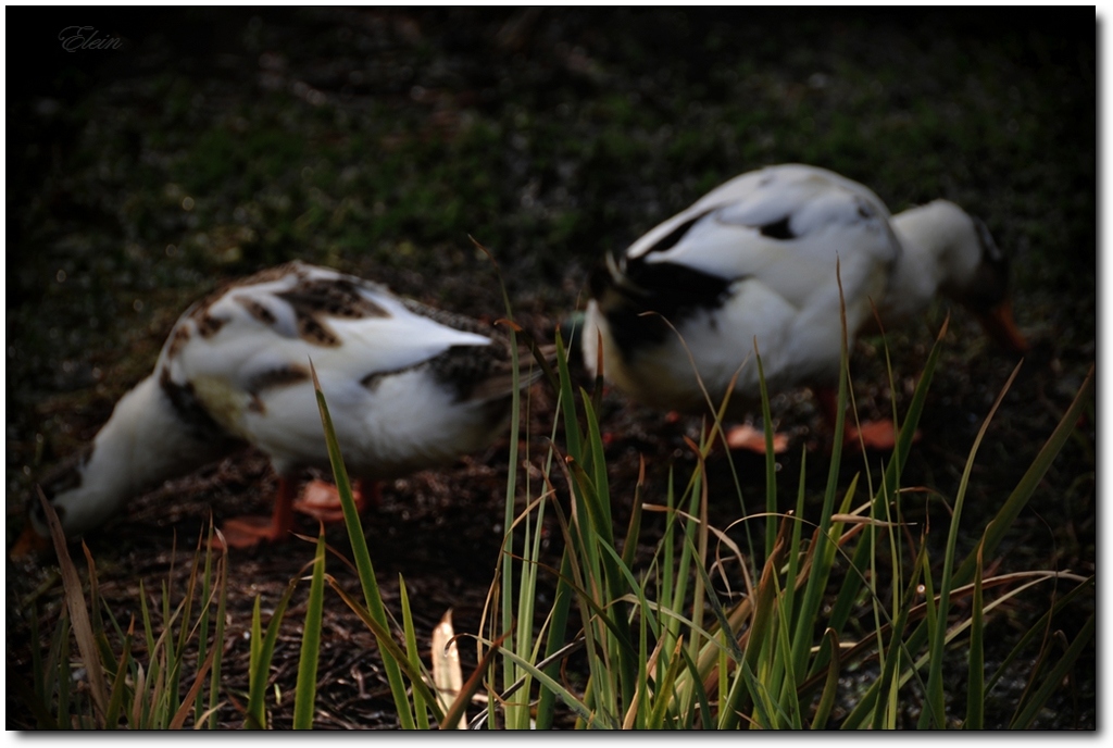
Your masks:
<path fill-rule="evenodd" d="M 667 264 L 727 282 L 756 279 L 802 307 L 830 286 L 836 257 L 847 298 L 884 288 L 878 283 L 900 253 L 888 218 L 863 185 L 816 167 L 769 167 L 712 190 L 631 245 L 620 263 L 634 284 L 632 265 Z"/>

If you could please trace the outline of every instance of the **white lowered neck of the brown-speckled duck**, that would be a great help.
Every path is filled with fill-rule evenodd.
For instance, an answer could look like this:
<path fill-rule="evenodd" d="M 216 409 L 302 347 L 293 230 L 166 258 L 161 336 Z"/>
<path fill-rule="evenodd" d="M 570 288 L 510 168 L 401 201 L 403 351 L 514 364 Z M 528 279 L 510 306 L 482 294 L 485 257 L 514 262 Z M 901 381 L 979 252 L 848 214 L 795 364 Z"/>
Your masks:
<path fill-rule="evenodd" d="M 67 537 L 91 530 L 139 492 L 208 461 L 217 446 L 189 433 L 148 376 L 120 398 L 85 463 L 73 466 L 76 485 L 53 496 L 62 529 Z"/>

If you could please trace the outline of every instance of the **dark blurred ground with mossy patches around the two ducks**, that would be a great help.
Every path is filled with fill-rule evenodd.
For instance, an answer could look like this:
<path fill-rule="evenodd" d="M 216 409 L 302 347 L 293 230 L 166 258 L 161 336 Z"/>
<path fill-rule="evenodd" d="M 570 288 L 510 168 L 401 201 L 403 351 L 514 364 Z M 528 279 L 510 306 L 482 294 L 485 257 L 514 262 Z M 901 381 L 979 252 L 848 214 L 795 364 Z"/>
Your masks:
<path fill-rule="evenodd" d="M 961 549 L 972 549 L 1070 405 L 1096 358 L 1096 47 L 1090 9 L 1033 13 L 678 10 L 169 10 L 7 13 L 29 59 L 8 78 L 7 535 L 23 524 L 35 480 L 91 439 L 151 367 L 170 325 L 220 280 L 293 258 L 374 277 L 424 302 L 503 316 L 499 262 L 515 316 L 540 338 L 582 307 L 604 252 L 626 246 L 725 179 L 801 161 L 858 179 L 894 210 L 935 197 L 983 217 L 1014 253 L 1015 306 L 1033 351 L 989 425 L 972 476 Z M 119 49 L 62 49 L 92 26 Z M 30 41 L 29 41 L 30 40 Z M 12 48 L 9 47 L 11 50 Z M 962 309 L 858 342 L 859 411 L 907 400 L 951 312 L 922 440 L 906 485 L 932 489 L 909 519 L 942 543 L 948 504 L 982 421 L 1017 360 L 991 347 Z M 587 384 L 587 383 L 585 383 Z M 531 394 L 529 459 L 542 456 L 552 396 Z M 779 460 L 787 509 L 802 476 L 819 508 L 827 442 L 808 393 L 774 402 L 794 450 Z M 903 412 L 903 410 L 902 410 Z M 670 466 L 692 461 L 683 435 L 615 393 L 604 397 L 612 493 L 632 496 L 639 457 L 658 501 Z M 870 469 L 884 455 L 870 455 Z M 760 459 L 736 463 L 754 509 Z M 1094 573 L 1095 411 L 1076 424 L 992 563 Z M 726 457 L 712 457 L 730 485 Z M 845 485 L 863 469 L 844 459 Z M 384 488 L 364 521 L 387 604 L 397 578 L 427 637 L 449 609 L 474 632 L 502 525 L 506 444 Z M 118 621 L 139 583 L 183 584 L 210 513 L 269 511 L 275 479 L 256 453 L 137 498 L 86 540 Z M 729 493 L 727 494 L 729 496 Z M 623 523 L 628 505 L 617 505 Z M 712 508 L 725 526 L 737 500 Z M 968 529 L 967 529 L 968 528 Z M 307 519 L 299 529 L 315 533 Z M 348 548 L 341 528 L 329 529 Z M 651 548 L 659 528 L 646 531 Z M 549 560 L 559 560 L 553 532 Z M 648 551 L 647 551 L 648 552 Z M 76 554 L 80 558 L 80 553 Z M 937 555 L 937 554 L 936 554 Z M 301 541 L 232 554 L 226 688 L 246 691 L 256 596 L 274 606 L 312 558 Z M 987 560 L 991 562 L 991 560 Z M 354 575 L 331 567 L 345 583 Z M 179 587 L 180 589 L 180 587 Z M 1061 592 L 1061 590 L 1060 590 Z M 999 661 L 1056 590 L 1036 589 L 991 621 Z M 61 584 L 50 560 L 9 561 L 9 675 L 29 678 L 30 621 L 43 641 Z M 289 727 L 305 590 L 276 650 L 275 727 Z M 1073 639 L 1093 600 L 1053 621 Z M 396 727 L 371 633 L 333 599 L 325 610 L 322 728 Z M 425 641 L 427 644 L 427 639 Z M 1093 729 L 1092 642 L 1041 715 L 1044 728 Z M 465 672 L 474 651 L 462 647 Z M 964 668 L 959 658 L 958 668 Z M 987 725 L 1007 724 L 1035 650 L 991 693 Z M 958 669 L 957 672 L 964 672 Z M 7 727 L 35 726 L 9 677 Z M 853 688 L 848 687 L 849 690 Z M 951 692 L 965 702 L 961 687 Z M 837 717 L 837 715 L 836 715 Z M 240 726 L 228 702 L 225 727 Z M 914 725 L 912 718 L 908 725 Z"/>

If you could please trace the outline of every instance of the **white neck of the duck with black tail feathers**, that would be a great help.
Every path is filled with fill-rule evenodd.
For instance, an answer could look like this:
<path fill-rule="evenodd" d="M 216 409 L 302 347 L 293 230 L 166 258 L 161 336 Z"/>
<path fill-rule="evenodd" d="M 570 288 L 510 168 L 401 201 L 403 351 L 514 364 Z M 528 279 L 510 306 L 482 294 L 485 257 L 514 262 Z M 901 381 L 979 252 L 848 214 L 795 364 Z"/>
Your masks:
<path fill-rule="evenodd" d="M 886 324 L 922 312 L 939 293 L 964 286 L 982 254 L 973 219 L 947 200 L 899 213 L 892 225 L 903 252 L 885 299 Z"/>

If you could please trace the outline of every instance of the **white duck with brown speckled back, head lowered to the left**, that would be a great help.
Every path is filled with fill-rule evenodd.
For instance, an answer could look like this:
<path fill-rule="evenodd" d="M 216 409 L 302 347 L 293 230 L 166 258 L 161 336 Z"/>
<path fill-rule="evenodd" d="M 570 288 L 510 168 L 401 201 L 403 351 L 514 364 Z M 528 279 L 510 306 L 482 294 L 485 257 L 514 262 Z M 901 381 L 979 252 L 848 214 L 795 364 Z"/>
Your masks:
<path fill-rule="evenodd" d="M 510 350 L 489 326 L 290 263 L 181 315 L 154 373 L 124 395 L 78 459 L 45 481 L 66 534 L 247 442 L 278 474 L 275 511 L 227 522 L 225 539 L 248 547 L 285 538 L 299 471 L 329 464 L 311 360 L 354 476 L 449 463 L 490 444 L 508 422 Z M 41 506 L 31 506 L 31 524 L 46 535 Z"/>

